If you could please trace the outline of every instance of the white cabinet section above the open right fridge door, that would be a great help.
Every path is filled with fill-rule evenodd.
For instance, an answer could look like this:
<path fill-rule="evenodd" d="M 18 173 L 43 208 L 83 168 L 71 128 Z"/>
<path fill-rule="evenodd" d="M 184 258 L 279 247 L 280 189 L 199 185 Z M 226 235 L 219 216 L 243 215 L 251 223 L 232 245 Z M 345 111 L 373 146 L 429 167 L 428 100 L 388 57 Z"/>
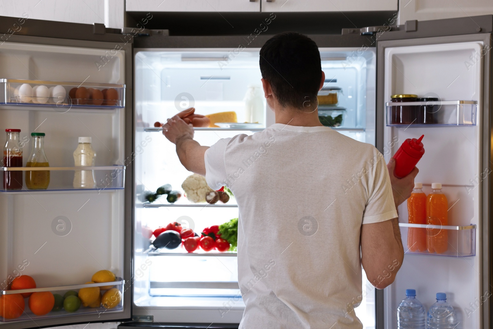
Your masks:
<path fill-rule="evenodd" d="M 493 13 L 491 0 L 399 0 L 399 24 L 409 20 L 486 15 Z"/>

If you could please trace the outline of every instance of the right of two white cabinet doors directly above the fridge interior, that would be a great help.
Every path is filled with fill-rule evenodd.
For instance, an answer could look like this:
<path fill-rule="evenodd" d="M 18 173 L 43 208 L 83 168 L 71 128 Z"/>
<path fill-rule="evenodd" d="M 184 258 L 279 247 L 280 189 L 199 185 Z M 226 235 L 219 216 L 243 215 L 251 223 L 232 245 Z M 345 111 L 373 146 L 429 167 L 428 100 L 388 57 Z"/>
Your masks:
<path fill-rule="evenodd" d="M 262 11 L 386 11 L 397 10 L 397 0 L 261 0 Z M 128 1 L 127 1 L 128 2 Z"/>

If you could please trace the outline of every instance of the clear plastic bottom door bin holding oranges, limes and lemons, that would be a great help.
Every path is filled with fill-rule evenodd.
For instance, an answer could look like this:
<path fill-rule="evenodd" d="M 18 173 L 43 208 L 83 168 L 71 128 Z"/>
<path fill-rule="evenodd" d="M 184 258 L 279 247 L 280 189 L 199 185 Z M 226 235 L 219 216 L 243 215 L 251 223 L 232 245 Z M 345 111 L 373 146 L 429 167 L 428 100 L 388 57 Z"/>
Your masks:
<path fill-rule="evenodd" d="M 105 287 L 112 286 L 108 290 L 102 290 L 100 295 L 104 300 L 109 300 L 109 306 L 111 308 L 104 307 L 101 303 L 97 307 L 84 307 L 80 304 L 80 307 L 73 311 L 68 312 L 65 308 L 61 308 L 60 310 L 51 310 L 50 312 L 44 315 L 35 315 L 30 307 L 29 307 L 29 299 L 31 297 L 22 298 L 21 293 L 30 293 L 30 292 L 51 292 L 53 294 L 59 294 L 64 296 L 67 292 L 79 292 L 82 288 L 94 288 L 94 287 Z M 101 289 L 101 288 L 100 288 Z M 46 287 L 46 288 L 33 288 L 33 289 L 19 289 L 19 290 L 2 290 L 0 293 L 0 307 L 3 307 L 0 310 L 0 314 L 5 314 L 10 309 L 10 305 L 8 303 L 15 302 L 17 305 L 22 299 L 24 301 L 24 311 L 22 315 L 16 318 L 4 318 L 0 316 L 0 322 L 12 322 L 12 321 L 25 321 L 25 320 L 33 320 L 40 318 L 53 318 L 67 315 L 75 315 L 75 314 L 88 314 L 88 313 L 104 313 L 104 312 L 115 312 L 121 311 L 123 309 L 123 292 L 125 289 L 125 281 L 121 278 L 116 278 L 116 281 L 112 282 L 101 282 L 101 283 L 90 283 L 90 284 L 80 284 L 80 285 L 70 285 L 70 286 L 59 286 L 59 287 Z M 107 297 L 105 298 L 105 293 L 107 293 Z M 119 295 L 119 297 L 118 297 Z M 71 298 L 73 299 L 73 298 Z M 120 299 L 120 300 L 118 300 Z M 97 303 L 97 302 L 96 302 Z M 55 307 L 57 304 L 55 303 Z M 54 307 L 54 308 L 55 308 Z"/>

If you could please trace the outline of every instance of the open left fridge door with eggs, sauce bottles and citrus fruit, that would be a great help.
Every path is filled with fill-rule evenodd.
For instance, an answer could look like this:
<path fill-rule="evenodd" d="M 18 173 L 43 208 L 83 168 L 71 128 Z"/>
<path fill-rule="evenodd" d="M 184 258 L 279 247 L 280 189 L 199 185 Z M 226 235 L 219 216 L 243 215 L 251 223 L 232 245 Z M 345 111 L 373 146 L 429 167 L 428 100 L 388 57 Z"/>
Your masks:
<path fill-rule="evenodd" d="M 131 43 L 2 17 L 2 33 L 12 26 L 0 47 L 0 327 L 129 319 Z"/>

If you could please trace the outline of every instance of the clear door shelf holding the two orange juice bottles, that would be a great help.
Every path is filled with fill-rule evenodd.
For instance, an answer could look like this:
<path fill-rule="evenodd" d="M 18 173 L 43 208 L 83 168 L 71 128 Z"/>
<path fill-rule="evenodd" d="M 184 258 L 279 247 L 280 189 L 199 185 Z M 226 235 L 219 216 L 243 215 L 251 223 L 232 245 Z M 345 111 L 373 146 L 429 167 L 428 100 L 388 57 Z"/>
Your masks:
<path fill-rule="evenodd" d="M 476 225 L 474 224 L 451 226 L 399 223 L 399 227 L 401 227 L 402 244 L 407 250 L 405 254 L 449 257 L 476 256 Z M 412 236 L 410 237 L 409 234 Z M 444 239 L 447 239 L 446 245 L 444 242 L 438 244 Z M 435 245 L 434 248 L 433 245 Z"/>

